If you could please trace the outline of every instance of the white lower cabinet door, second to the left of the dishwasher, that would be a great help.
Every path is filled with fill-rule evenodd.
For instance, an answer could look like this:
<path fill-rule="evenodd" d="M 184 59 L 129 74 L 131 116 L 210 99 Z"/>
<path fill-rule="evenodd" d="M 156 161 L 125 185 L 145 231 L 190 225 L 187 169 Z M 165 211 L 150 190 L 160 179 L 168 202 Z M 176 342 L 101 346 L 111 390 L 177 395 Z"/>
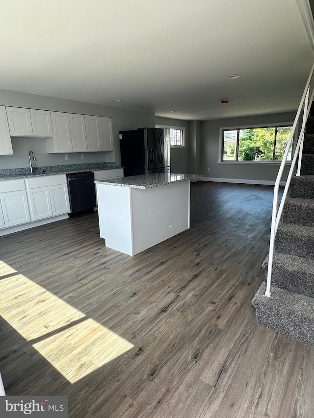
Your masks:
<path fill-rule="evenodd" d="M 50 218 L 52 216 L 52 206 L 49 187 L 37 187 L 27 190 L 27 196 L 30 207 L 30 219 L 38 221 L 39 219 Z"/>

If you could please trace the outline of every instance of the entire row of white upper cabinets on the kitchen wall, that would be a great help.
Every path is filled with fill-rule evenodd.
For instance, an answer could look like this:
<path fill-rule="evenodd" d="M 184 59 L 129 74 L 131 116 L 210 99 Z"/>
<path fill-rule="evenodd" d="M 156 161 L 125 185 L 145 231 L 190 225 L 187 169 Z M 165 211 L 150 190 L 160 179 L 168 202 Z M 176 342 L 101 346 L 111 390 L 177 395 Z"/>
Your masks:
<path fill-rule="evenodd" d="M 46 138 L 48 153 L 114 149 L 111 118 L 0 106 L 0 155 L 13 154 L 11 136 Z"/>

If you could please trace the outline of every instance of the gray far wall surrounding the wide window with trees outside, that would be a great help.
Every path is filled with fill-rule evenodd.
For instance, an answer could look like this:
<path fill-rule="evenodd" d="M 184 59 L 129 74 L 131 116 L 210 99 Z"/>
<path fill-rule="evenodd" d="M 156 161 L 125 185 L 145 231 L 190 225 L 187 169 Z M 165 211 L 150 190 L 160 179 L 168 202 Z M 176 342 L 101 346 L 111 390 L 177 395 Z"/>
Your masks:
<path fill-rule="evenodd" d="M 201 174 L 206 177 L 274 181 L 278 164 L 218 163 L 219 129 L 221 127 L 249 126 L 266 123 L 293 122 L 294 112 L 273 115 L 250 116 L 233 119 L 219 119 L 202 122 L 201 129 Z M 210 168 L 210 172 L 208 172 Z"/>

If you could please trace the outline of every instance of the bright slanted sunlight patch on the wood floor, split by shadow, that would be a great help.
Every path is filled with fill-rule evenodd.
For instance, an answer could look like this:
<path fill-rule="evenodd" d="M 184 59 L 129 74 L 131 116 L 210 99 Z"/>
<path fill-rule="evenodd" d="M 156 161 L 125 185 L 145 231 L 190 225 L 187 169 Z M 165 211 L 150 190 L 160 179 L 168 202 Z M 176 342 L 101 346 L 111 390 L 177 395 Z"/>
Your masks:
<path fill-rule="evenodd" d="M 2 277 L 15 272 L 0 262 Z M 23 274 L 0 280 L 0 315 L 71 383 L 133 347 Z"/>

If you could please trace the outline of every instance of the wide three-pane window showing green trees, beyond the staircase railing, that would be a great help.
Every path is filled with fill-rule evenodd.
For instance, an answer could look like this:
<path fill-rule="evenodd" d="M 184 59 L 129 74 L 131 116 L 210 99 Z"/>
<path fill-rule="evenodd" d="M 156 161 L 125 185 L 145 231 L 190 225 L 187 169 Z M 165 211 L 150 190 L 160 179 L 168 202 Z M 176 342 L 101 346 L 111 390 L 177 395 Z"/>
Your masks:
<path fill-rule="evenodd" d="M 281 161 L 291 125 L 222 129 L 222 161 Z M 292 146 L 288 153 L 291 161 Z"/>

